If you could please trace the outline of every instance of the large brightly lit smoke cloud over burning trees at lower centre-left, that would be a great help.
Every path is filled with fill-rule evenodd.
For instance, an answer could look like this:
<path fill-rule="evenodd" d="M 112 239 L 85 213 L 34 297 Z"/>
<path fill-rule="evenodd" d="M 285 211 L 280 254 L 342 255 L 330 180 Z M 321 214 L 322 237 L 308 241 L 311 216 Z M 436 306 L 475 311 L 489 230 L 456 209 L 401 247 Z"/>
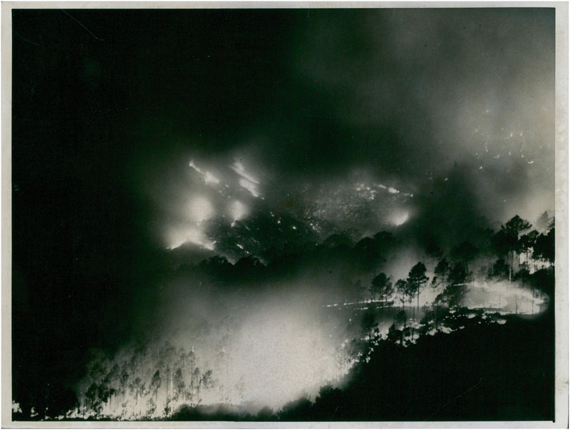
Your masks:
<path fill-rule="evenodd" d="M 139 347 L 93 358 L 72 414 L 100 407 L 103 416 L 148 418 L 183 404 L 232 404 L 256 413 L 314 398 L 324 384 L 341 384 L 351 367 L 346 343 L 358 325 L 349 327 L 325 307 L 346 294 L 318 277 L 229 286 L 197 272 L 177 275 L 163 285 Z M 93 384 L 99 391 L 89 391 Z M 112 394 L 98 394 L 100 405 L 93 406 L 93 393 L 105 390 Z"/>

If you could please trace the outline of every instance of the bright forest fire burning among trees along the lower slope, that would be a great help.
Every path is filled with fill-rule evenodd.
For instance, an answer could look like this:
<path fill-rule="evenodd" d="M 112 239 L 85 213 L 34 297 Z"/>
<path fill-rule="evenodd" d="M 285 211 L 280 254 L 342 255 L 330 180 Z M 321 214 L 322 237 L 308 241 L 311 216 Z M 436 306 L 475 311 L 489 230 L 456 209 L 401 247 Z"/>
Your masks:
<path fill-rule="evenodd" d="M 182 406 L 224 404 L 252 414 L 263 407 L 279 410 L 299 396 L 314 398 L 325 384 L 341 384 L 364 352 L 362 347 L 349 351 L 351 338 L 387 339 L 396 329 L 411 344 L 423 332 L 462 329 L 463 319 L 504 324 L 507 314 L 538 316 L 549 301 L 544 292 L 520 283 L 473 281 L 457 286 L 459 301 L 447 312 L 435 312 L 443 292 L 435 291 L 430 296 L 437 299 L 422 300 L 418 308 L 398 290 L 383 300 L 314 308 L 316 297 L 285 290 L 273 292 L 279 300 L 249 296 L 252 306 L 245 309 L 244 301 L 228 296 L 222 299 L 224 317 L 202 322 L 203 315 L 192 313 L 196 304 L 179 307 L 175 313 L 187 318 L 172 319 L 145 344 L 130 344 L 114 357 L 95 354 L 77 387 L 79 406 L 66 417 L 161 419 Z M 462 319 L 456 309 L 465 309 Z M 374 314 L 369 327 L 375 329 L 361 332 L 367 312 Z"/>

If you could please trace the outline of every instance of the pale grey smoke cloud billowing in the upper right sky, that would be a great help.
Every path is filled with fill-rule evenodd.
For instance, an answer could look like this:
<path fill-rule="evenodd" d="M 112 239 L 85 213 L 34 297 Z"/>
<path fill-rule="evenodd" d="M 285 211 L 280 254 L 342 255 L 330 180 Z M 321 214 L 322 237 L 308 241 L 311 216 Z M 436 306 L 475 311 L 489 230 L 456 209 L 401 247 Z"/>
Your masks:
<path fill-rule="evenodd" d="M 445 203 L 469 193 L 462 216 L 536 219 L 554 205 L 553 26 L 548 9 L 311 12 L 290 56 L 306 106 L 259 152 L 286 176 L 361 168 L 424 197 L 459 165 Z"/>

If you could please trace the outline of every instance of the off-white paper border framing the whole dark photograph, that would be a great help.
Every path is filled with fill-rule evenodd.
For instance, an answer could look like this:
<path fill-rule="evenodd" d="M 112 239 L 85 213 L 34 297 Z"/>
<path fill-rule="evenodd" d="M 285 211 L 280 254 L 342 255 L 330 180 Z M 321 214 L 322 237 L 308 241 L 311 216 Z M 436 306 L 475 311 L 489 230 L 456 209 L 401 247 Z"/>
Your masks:
<path fill-rule="evenodd" d="M 11 419 L 11 83 L 13 9 L 324 9 L 324 8 L 527 8 L 556 9 L 556 120 L 555 120 L 555 220 L 556 220 L 556 378 L 555 421 L 450 421 L 450 422 L 234 422 L 234 421 L 12 421 Z M 568 428 L 569 426 L 569 26 L 567 2 L 44 2 L 9 1 L 1 5 L 1 425 L 6 428 Z"/>

